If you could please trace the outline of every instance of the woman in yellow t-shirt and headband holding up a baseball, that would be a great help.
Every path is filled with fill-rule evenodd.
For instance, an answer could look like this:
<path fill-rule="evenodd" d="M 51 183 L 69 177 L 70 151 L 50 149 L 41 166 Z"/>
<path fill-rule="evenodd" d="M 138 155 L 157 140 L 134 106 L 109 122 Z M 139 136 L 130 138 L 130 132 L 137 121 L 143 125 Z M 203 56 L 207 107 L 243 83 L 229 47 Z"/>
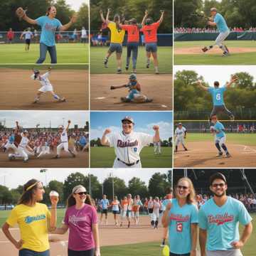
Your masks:
<path fill-rule="evenodd" d="M 17 206 L 11 210 L 2 230 L 6 238 L 17 248 L 19 256 L 50 256 L 48 232 L 54 230 L 57 222 L 58 197 L 50 196 L 51 210 L 43 203 L 43 183 L 31 179 L 23 186 L 23 193 Z M 16 240 L 9 228 L 18 224 L 21 240 Z"/>

